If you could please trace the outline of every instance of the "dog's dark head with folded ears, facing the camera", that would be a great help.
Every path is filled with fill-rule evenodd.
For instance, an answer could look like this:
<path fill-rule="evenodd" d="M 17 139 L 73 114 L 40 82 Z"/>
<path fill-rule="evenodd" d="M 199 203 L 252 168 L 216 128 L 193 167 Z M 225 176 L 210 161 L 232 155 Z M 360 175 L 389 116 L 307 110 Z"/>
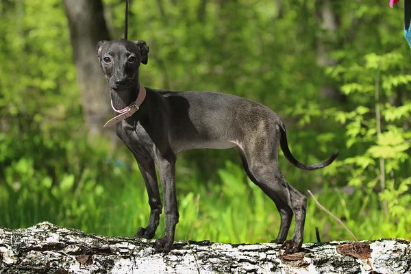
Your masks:
<path fill-rule="evenodd" d="M 102 40 L 97 44 L 97 58 L 108 86 L 116 91 L 136 85 L 140 63 L 147 64 L 149 47 L 143 40 Z"/>

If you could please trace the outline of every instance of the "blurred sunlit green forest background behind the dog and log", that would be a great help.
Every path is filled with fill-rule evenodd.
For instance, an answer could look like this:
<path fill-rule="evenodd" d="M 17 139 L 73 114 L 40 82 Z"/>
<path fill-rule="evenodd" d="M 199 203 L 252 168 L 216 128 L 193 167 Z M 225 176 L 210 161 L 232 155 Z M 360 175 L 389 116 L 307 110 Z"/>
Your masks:
<path fill-rule="evenodd" d="M 0 226 L 40 221 L 133 236 L 149 205 L 138 166 L 104 122 L 110 109 L 95 47 L 123 37 L 125 1 L 0 1 Z M 264 103 L 288 130 L 301 171 L 288 182 L 360 239 L 411 238 L 410 47 L 403 3 L 358 0 L 131 1 L 129 39 L 146 40 L 140 81 Z M 160 111 L 160 110 L 159 110 Z M 181 153 L 177 240 L 267 242 L 274 203 L 234 149 Z M 308 201 L 305 241 L 351 236 Z M 164 229 L 162 216 L 157 236 Z M 292 229 L 290 229 L 292 233 Z"/>

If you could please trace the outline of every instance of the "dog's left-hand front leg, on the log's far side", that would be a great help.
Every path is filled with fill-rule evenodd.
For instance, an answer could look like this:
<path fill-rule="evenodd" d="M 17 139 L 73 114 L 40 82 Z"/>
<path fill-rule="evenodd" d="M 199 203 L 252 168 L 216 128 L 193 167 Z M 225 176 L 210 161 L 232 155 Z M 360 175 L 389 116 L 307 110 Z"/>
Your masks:
<path fill-rule="evenodd" d="M 157 175 L 153 159 L 138 160 L 138 168 L 144 179 L 147 195 L 149 196 L 150 219 L 146 228 L 140 227 L 135 237 L 151 239 L 155 235 L 155 230 L 160 223 L 160 214 L 162 210 L 160 192 L 158 190 Z"/>

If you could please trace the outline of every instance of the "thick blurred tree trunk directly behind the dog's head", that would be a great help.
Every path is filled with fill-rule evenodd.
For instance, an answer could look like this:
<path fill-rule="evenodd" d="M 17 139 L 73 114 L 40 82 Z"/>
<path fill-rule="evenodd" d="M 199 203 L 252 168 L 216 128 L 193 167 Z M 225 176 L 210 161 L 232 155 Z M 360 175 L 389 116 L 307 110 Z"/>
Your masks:
<path fill-rule="evenodd" d="M 64 0 L 64 8 L 69 19 L 77 82 L 90 137 L 101 133 L 113 135 L 112 129 L 103 129 L 112 110 L 107 82 L 96 58 L 97 42 L 110 39 L 103 4 L 101 0 Z"/>

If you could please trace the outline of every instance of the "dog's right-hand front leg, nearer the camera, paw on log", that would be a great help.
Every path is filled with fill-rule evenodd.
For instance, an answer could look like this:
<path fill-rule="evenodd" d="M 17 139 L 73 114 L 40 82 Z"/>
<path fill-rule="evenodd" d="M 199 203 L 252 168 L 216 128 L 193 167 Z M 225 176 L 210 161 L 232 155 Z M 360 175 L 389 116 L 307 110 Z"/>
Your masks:
<path fill-rule="evenodd" d="M 163 190 L 166 229 L 164 230 L 164 236 L 155 240 L 155 252 L 169 252 L 174 243 L 175 226 L 179 219 L 175 192 L 175 161 L 176 157 L 173 152 L 158 157 L 156 161 Z"/>

